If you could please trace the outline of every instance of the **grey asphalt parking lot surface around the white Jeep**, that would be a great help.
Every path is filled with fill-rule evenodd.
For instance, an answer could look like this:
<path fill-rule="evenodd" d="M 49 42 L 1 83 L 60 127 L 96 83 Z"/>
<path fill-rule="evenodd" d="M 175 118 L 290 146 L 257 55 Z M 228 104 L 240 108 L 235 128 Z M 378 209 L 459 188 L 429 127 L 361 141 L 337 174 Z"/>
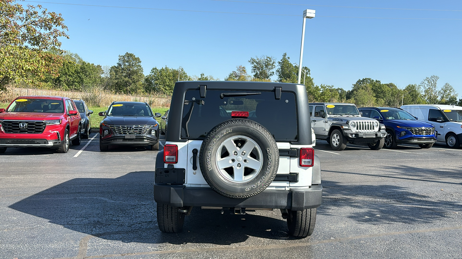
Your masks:
<path fill-rule="evenodd" d="M 66 154 L 9 148 L 0 155 L 1 259 L 462 254 L 462 149 L 349 144 L 338 152 L 317 141 L 324 190 L 315 231 L 280 240 L 276 234 L 287 226 L 277 210 L 231 215 L 194 208 L 182 233 L 161 233 L 152 195 L 157 151 L 102 153 L 97 134 L 91 137 Z"/>

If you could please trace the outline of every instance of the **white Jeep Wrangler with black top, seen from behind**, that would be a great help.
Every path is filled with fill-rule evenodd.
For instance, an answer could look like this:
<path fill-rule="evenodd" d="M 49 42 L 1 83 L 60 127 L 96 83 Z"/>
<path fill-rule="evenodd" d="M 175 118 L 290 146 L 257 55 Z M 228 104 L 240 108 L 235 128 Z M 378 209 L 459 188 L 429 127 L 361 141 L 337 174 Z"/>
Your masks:
<path fill-rule="evenodd" d="M 156 158 L 158 226 L 181 231 L 193 206 L 279 209 L 289 234 L 313 233 L 321 165 L 304 85 L 176 82 L 166 145 Z"/>

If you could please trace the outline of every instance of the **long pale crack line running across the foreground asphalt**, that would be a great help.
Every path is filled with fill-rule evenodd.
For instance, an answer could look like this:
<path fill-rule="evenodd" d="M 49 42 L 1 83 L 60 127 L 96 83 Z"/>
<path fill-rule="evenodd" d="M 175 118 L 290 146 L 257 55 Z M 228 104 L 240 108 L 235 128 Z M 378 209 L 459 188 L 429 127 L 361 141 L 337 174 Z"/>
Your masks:
<path fill-rule="evenodd" d="M 178 250 L 161 250 L 161 251 L 149 251 L 149 252 L 134 252 L 134 253 L 116 253 L 116 254 L 104 254 L 104 255 L 94 255 L 86 256 L 88 250 L 88 242 L 93 237 L 99 237 L 102 235 L 116 234 L 116 232 L 102 233 L 99 235 L 86 235 L 80 240 L 79 244 L 79 253 L 76 257 L 67 257 L 67 258 L 54 258 L 54 259 L 97 259 L 97 258 L 108 258 L 108 257 L 122 257 L 122 256 L 134 256 L 134 255 L 149 255 L 149 254 L 170 254 L 170 253 L 201 253 L 201 252 L 211 252 L 211 251 L 228 251 L 228 250 L 262 250 L 262 249 L 283 249 L 291 247 L 308 247 L 318 244 L 334 243 L 334 242 L 343 242 L 361 238 L 374 238 L 382 237 L 389 235 L 404 235 L 404 234 L 416 234 L 416 233 L 429 233 L 429 232 L 438 232 L 438 231 L 447 231 L 447 230 L 462 230 L 462 226 L 454 227 L 444 227 L 444 228 L 431 228 L 425 230 L 408 230 L 408 231 L 396 231 L 380 234 L 371 234 L 371 235 L 356 235 L 351 237 L 340 237 L 334 239 L 326 239 L 320 241 L 314 241 L 310 243 L 289 243 L 289 244 L 277 244 L 277 245 L 266 245 L 266 246 L 249 246 L 249 247 L 207 247 L 207 248 L 198 248 L 198 249 L 178 249 Z"/>

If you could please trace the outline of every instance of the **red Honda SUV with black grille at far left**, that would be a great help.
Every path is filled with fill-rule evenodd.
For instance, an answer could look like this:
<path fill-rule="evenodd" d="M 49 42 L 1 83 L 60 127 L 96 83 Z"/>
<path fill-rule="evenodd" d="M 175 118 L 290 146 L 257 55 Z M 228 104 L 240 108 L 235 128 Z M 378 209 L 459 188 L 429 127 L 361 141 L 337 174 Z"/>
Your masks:
<path fill-rule="evenodd" d="M 0 153 L 7 147 L 51 147 L 67 153 L 80 145 L 81 118 L 73 100 L 21 96 L 0 109 Z"/>

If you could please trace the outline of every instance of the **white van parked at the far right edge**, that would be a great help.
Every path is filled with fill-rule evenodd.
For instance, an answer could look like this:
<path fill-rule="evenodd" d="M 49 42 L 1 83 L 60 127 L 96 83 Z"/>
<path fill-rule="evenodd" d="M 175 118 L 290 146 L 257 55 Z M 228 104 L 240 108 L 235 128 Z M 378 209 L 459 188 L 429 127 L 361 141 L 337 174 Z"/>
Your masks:
<path fill-rule="evenodd" d="M 438 142 L 458 148 L 462 143 L 462 107 L 453 105 L 403 105 L 401 109 L 418 120 L 428 122 L 438 131 Z"/>

